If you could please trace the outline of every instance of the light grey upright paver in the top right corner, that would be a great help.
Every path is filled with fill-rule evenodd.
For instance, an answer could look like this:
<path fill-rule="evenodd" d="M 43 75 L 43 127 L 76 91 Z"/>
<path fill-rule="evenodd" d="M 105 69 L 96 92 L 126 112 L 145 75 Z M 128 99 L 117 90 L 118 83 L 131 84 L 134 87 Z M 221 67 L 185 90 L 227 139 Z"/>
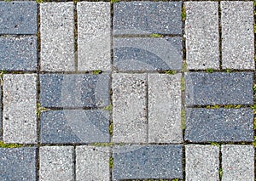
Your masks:
<path fill-rule="evenodd" d="M 254 70 L 253 1 L 222 1 L 222 66 Z"/>

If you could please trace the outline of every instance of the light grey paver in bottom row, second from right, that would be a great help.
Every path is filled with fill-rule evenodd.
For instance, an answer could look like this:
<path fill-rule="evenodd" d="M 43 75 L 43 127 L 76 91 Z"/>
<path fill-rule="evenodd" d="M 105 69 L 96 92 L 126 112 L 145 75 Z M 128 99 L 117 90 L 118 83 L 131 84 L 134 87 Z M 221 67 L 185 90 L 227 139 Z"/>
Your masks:
<path fill-rule="evenodd" d="M 212 145 L 186 145 L 186 180 L 219 180 L 219 148 Z"/>

